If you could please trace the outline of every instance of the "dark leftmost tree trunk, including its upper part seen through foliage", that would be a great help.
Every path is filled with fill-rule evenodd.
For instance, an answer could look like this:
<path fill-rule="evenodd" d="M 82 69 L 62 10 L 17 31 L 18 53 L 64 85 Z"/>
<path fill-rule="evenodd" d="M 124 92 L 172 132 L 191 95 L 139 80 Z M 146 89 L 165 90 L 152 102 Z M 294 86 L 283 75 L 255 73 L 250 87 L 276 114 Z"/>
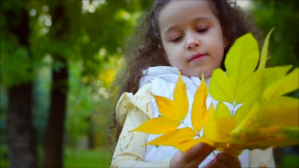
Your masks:
<path fill-rule="evenodd" d="M 21 46 L 28 49 L 30 55 L 28 12 L 24 7 L 8 10 L 5 12 L 5 17 L 10 21 L 19 18 L 18 23 L 9 23 L 9 31 L 18 38 Z M 32 72 L 32 69 L 28 69 L 28 71 Z M 38 155 L 31 106 L 32 81 L 15 84 L 8 88 L 7 140 L 8 160 L 11 168 L 37 167 Z"/>

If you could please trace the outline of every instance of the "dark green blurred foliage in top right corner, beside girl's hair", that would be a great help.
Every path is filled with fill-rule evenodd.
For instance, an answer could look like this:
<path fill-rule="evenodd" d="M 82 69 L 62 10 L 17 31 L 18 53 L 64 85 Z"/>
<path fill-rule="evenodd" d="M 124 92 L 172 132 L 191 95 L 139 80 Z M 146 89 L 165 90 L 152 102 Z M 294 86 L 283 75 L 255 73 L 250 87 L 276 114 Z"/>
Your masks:
<path fill-rule="evenodd" d="M 271 65 L 299 66 L 299 1 L 256 0 L 251 13 L 258 27 L 267 33 L 275 27 L 269 42 Z"/>

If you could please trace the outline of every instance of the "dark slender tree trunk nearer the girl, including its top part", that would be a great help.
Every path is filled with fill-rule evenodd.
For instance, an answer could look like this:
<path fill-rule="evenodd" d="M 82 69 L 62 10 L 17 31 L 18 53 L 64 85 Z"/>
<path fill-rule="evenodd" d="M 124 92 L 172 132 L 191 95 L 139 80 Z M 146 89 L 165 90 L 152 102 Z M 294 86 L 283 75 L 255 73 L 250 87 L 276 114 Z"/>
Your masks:
<path fill-rule="evenodd" d="M 50 38 L 63 42 L 63 35 L 68 33 L 68 20 L 63 1 L 54 1 L 53 9 L 50 8 L 52 16 L 52 27 L 49 34 Z M 65 36 L 64 36 L 65 37 Z M 52 89 L 50 113 L 48 125 L 46 128 L 45 140 L 45 168 L 62 168 L 63 167 L 63 135 L 64 120 L 66 113 L 66 97 L 68 90 L 68 68 L 67 59 L 57 51 L 51 53 L 56 62 L 62 63 L 62 66 L 52 70 Z"/>

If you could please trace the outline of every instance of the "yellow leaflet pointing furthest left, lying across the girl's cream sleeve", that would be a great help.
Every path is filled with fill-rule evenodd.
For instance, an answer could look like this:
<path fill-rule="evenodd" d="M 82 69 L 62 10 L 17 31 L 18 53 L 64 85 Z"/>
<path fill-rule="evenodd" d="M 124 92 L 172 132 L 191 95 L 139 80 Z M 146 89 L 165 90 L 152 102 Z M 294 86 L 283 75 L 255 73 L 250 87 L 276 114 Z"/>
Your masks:
<path fill-rule="evenodd" d="M 179 120 L 173 120 L 161 116 L 152 118 L 131 131 L 141 131 L 149 134 L 164 134 L 168 131 L 177 129 L 179 124 Z"/>

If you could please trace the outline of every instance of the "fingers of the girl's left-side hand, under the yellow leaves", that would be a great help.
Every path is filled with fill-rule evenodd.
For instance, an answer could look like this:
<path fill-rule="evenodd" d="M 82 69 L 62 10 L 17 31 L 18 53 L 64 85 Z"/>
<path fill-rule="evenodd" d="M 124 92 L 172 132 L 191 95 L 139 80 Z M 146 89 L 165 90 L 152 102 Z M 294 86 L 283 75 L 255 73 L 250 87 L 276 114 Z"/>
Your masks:
<path fill-rule="evenodd" d="M 184 153 L 186 163 L 195 162 L 201 163 L 215 148 L 205 144 L 198 143 Z M 199 164 L 198 164 L 199 165 Z"/>

